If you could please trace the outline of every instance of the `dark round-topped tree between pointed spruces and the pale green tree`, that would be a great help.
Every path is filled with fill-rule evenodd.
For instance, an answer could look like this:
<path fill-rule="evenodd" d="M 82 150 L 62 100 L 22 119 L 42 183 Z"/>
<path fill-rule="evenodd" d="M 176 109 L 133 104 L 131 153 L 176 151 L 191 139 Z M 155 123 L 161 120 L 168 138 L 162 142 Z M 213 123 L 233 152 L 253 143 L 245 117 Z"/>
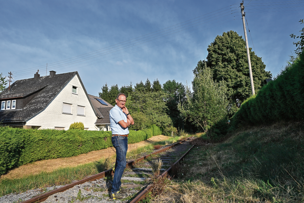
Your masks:
<path fill-rule="evenodd" d="M 175 128 L 184 129 L 184 119 L 178 110 L 178 104 L 184 103 L 186 98 L 185 86 L 175 80 L 168 80 L 163 84 L 163 91 L 167 93 L 166 106 L 168 107 L 167 114 L 172 119 Z"/>

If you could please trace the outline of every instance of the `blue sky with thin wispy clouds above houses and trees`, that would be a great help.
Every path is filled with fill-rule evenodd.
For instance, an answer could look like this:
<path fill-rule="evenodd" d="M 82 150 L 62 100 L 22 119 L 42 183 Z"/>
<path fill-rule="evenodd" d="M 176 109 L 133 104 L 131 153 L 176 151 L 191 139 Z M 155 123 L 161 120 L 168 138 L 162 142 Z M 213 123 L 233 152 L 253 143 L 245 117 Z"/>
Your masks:
<path fill-rule="evenodd" d="M 244 1 L 247 4 L 256 54 L 262 57 L 266 70 L 276 75 L 295 50 L 295 40 L 289 35 L 300 34 L 303 25 L 298 21 L 303 18 L 304 0 Z M 48 63 L 47 71 L 78 71 L 92 95 L 98 95 L 105 82 L 121 86 L 158 78 L 162 84 L 169 79 L 191 84 L 192 70 L 206 58 L 207 47 L 217 35 L 234 30 L 244 36 L 239 6 L 238 1 L 0 0 L 0 72 L 14 72 L 17 80 L 31 78 L 40 69 L 42 76 Z M 183 22 L 193 25 L 185 27 Z M 185 28 L 178 30 L 177 26 Z M 172 30 L 176 33 L 169 32 Z M 147 35 L 152 32 L 155 35 Z M 146 38 L 140 37 L 143 35 Z M 146 41 L 133 44 L 133 38 Z M 147 42 L 148 38 L 152 41 Z M 131 41 L 118 44 L 126 40 L 136 46 L 124 47 Z M 248 40 L 253 48 L 249 33 Z M 115 44 L 120 46 L 109 47 Z M 95 50 L 99 52 L 92 52 Z M 82 55 L 89 52 L 91 55 Z M 79 55 L 82 58 L 76 57 Z"/>

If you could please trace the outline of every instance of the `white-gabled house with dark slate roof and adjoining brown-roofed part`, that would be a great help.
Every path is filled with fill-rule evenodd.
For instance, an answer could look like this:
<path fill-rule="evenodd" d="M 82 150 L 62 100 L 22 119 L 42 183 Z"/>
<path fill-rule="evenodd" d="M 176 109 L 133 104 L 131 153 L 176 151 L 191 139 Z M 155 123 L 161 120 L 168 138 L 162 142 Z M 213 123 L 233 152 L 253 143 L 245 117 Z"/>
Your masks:
<path fill-rule="evenodd" d="M 88 95 L 78 72 L 17 80 L 0 93 L 0 102 L 2 125 L 68 130 L 71 123 L 83 122 L 85 130 L 110 130 L 113 106 Z"/>

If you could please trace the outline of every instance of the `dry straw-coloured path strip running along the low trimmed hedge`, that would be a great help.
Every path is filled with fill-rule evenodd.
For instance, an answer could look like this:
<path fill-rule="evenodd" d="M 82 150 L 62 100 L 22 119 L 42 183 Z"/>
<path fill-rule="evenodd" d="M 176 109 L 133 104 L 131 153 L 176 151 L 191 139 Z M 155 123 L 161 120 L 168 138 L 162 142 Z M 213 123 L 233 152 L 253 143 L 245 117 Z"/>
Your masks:
<path fill-rule="evenodd" d="M 135 144 L 129 144 L 128 152 L 133 149 L 136 149 L 138 147 L 151 144 L 153 142 L 167 140 L 168 138 L 169 137 L 164 136 L 164 135 L 157 135 L 157 136 L 153 136 L 152 138 L 149 138 L 147 140 L 144 140 L 142 142 L 138 142 Z M 106 157 L 109 157 L 109 156 L 112 156 L 115 154 L 116 154 L 116 151 L 115 151 L 114 147 L 110 147 L 107 149 L 88 152 L 87 154 L 81 154 L 81 155 L 73 156 L 73 157 L 35 161 L 33 163 L 28 163 L 28 164 L 22 165 L 16 169 L 10 170 L 7 174 L 2 175 L 0 177 L 0 179 L 2 179 L 2 178 L 9 178 L 9 179 L 20 178 L 23 176 L 28 176 L 30 174 L 35 175 L 42 171 L 51 172 L 51 171 L 61 168 L 61 167 L 73 167 L 73 166 L 77 166 L 78 164 L 98 161 L 99 159 L 106 158 Z"/>

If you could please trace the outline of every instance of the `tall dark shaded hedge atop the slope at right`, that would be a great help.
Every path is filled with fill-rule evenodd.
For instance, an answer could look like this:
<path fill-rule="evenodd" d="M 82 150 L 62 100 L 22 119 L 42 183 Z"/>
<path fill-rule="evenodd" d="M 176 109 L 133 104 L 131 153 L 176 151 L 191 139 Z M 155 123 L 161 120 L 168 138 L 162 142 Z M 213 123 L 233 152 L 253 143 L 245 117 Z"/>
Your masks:
<path fill-rule="evenodd" d="M 304 118 L 304 54 L 284 74 L 247 99 L 231 119 L 240 124 L 264 124 Z"/>

